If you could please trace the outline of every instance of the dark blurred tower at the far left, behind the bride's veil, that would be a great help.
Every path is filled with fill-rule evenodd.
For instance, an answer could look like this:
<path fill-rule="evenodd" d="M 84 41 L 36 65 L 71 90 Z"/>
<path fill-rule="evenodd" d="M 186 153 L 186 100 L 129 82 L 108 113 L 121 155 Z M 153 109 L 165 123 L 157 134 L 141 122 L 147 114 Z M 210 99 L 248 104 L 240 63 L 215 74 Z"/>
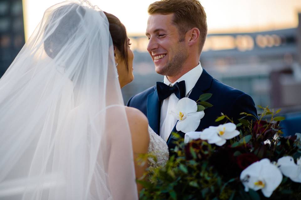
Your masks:
<path fill-rule="evenodd" d="M 22 0 L 0 1 L 0 77 L 24 46 Z"/>

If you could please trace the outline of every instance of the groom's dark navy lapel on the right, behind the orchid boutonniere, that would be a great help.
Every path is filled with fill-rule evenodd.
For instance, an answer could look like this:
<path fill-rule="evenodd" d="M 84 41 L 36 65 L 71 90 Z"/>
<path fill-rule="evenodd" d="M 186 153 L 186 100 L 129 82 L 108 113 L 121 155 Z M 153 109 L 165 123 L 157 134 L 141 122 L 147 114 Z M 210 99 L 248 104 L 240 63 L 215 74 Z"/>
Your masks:
<path fill-rule="evenodd" d="M 205 91 L 210 88 L 212 80 L 213 80 L 212 76 L 210 76 L 206 72 L 206 70 L 203 69 L 203 72 L 202 72 L 200 78 L 198 78 L 198 81 L 195 84 L 195 86 L 193 87 L 188 98 L 192 99 L 193 101 L 197 101 L 199 99 L 200 95 L 205 93 Z M 202 119 L 201 119 L 201 123 L 202 123 Z M 177 131 L 176 125 L 172 129 L 172 132 L 178 133 L 182 138 L 184 138 L 184 136 L 185 136 L 185 133 L 183 133 L 182 131 Z M 174 148 L 174 146 L 175 146 L 175 145 L 173 145 L 173 142 L 176 140 L 176 138 L 174 138 L 172 136 L 172 132 L 169 135 L 169 138 L 167 139 L 167 144 L 168 144 L 169 149 Z"/>

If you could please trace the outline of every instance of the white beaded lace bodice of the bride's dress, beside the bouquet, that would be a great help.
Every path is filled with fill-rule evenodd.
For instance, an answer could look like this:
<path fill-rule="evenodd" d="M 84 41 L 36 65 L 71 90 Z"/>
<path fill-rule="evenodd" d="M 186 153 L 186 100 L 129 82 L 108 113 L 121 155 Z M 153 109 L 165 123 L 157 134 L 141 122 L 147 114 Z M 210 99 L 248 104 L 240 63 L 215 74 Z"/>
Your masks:
<path fill-rule="evenodd" d="M 168 146 L 150 126 L 148 126 L 148 132 L 150 134 L 148 153 L 151 153 L 157 158 L 157 163 L 152 158 L 148 158 L 149 164 L 151 167 L 164 166 L 169 158 Z"/>

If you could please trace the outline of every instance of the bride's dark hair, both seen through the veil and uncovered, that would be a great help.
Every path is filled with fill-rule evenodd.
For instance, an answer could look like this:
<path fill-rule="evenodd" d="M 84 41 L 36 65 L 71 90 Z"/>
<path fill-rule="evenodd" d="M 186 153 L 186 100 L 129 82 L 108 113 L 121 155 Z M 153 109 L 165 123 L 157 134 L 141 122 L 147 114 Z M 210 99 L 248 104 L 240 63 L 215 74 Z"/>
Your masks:
<path fill-rule="evenodd" d="M 109 31 L 113 40 L 113 45 L 119 50 L 124 59 L 126 68 L 129 70 L 126 29 L 116 16 L 107 12 L 104 12 L 104 14 L 109 22 Z M 85 9 L 81 5 L 75 3 L 61 6 L 52 13 L 50 21 L 45 26 L 44 41 L 45 52 L 50 58 L 54 58 L 71 36 L 77 31 L 78 23 L 84 15 Z M 50 33 L 49 30 L 53 30 L 56 20 L 61 21 L 57 27 L 55 27 L 55 30 Z"/>

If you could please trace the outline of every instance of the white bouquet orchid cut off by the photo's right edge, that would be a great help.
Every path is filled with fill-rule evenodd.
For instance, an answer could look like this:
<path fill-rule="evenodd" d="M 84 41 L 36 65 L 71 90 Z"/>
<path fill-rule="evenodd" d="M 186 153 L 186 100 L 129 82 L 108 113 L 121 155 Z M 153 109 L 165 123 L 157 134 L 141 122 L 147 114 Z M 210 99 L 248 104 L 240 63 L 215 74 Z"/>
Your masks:
<path fill-rule="evenodd" d="M 289 177 L 292 181 L 301 183 L 301 157 L 297 159 L 297 164 L 291 156 L 279 158 L 277 166 L 284 176 Z"/>

